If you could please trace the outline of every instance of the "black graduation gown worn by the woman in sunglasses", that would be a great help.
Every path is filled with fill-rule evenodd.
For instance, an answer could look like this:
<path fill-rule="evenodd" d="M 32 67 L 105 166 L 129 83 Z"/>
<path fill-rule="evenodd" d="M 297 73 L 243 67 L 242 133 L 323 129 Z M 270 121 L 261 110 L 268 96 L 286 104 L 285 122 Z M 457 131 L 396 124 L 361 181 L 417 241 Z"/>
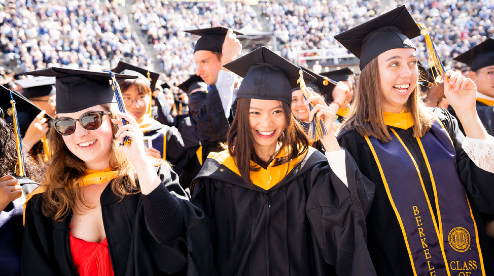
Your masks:
<path fill-rule="evenodd" d="M 158 238 L 172 225 L 151 227 L 145 214 L 143 195 L 125 196 L 123 200 L 111 191 L 110 182 L 101 194 L 103 226 L 115 276 L 208 275 L 212 249 L 208 243 L 203 212 L 192 205 L 178 184 L 178 177 L 163 165 L 158 170 L 162 180 L 159 189 L 169 191 L 178 201 L 183 214 L 182 234 L 172 242 Z M 113 179 L 112 181 L 115 181 Z M 148 196 L 149 196 L 148 195 Z M 26 207 L 22 247 L 22 274 L 29 276 L 78 276 L 70 251 L 72 214 L 55 222 L 41 212 L 41 194 Z M 155 205 L 153 211 L 164 212 Z M 149 210 L 149 208 L 148 208 Z"/>

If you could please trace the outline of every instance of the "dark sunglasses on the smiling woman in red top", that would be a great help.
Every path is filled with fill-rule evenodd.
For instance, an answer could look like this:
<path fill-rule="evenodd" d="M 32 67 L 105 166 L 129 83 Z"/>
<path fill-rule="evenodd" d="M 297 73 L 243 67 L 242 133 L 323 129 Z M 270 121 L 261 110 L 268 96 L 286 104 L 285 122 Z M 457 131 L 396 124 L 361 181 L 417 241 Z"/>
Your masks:
<path fill-rule="evenodd" d="M 71 135 L 76 131 L 76 122 L 79 121 L 81 126 L 86 130 L 96 130 L 101 127 L 104 115 L 112 115 L 110 111 L 91 111 L 82 114 L 81 118 L 74 120 L 72 118 L 60 118 L 50 122 L 55 130 L 61 135 Z"/>

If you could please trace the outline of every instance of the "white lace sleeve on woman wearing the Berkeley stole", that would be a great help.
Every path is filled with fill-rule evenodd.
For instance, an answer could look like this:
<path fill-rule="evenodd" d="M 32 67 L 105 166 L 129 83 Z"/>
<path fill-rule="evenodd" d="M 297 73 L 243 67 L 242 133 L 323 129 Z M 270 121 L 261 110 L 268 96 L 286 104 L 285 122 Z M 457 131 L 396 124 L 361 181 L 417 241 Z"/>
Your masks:
<path fill-rule="evenodd" d="M 494 137 L 489 135 L 488 140 L 467 137 L 461 147 L 477 167 L 494 173 Z"/>

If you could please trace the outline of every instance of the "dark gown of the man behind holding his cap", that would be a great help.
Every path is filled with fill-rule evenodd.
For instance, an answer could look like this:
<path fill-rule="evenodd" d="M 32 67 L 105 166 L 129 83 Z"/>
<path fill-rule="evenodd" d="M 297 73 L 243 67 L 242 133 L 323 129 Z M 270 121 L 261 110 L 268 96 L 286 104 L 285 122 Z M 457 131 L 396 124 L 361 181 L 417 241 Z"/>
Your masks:
<path fill-rule="evenodd" d="M 198 91 L 189 95 L 189 112 L 192 120 L 195 121 L 192 126 L 197 127 L 201 135 L 203 163 L 206 161 L 209 152 L 223 150 L 219 143 L 226 142 L 236 108 L 237 101 L 232 104 L 230 116 L 228 118 L 225 117 L 225 111 L 215 85 L 212 85 L 207 93 Z"/>

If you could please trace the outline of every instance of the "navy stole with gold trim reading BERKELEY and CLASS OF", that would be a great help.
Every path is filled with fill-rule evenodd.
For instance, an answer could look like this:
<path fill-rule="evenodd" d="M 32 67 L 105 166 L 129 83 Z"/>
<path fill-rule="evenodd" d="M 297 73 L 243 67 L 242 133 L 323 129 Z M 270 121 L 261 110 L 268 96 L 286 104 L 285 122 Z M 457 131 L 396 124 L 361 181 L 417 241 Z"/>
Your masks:
<path fill-rule="evenodd" d="M 449 134 L 435 122 L 416 138 L 434 190 L 436 220 L 415 160 L 394 129 L 391 132 L 386 143 L 365 138 L 400 223 L 414 275 L 485 276 L 477 225 L 456 173 Z"/>

